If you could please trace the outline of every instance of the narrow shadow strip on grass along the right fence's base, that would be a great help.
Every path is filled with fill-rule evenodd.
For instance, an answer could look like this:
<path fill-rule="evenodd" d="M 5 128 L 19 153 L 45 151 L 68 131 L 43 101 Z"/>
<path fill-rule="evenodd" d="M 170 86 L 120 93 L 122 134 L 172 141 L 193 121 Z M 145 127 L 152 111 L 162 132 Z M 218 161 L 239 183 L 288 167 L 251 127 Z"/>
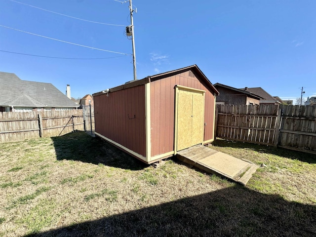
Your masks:
<path fill-rule="evenodd" d="M 297 151 L 288 150 L 284 148 L 274 148 L 272 146 L 235 142 L 235 141 L 228 141 L 228 140 L 222 140 L 222 139 L 213 141 L 212 145 L 215 147 L 232 147 L 232 148 L 248 149 L 248 150 L 256 151 L 259 153 L 267 153 L 267 154 L 272 154 L 272 155 L 276 155 L 276 156 L 284 157 L 284 158 L 298 159 L 300 161 L 307 162 L 310 164 L 316 163 L 316 156 L 313 154 L 297 152 Z"/>

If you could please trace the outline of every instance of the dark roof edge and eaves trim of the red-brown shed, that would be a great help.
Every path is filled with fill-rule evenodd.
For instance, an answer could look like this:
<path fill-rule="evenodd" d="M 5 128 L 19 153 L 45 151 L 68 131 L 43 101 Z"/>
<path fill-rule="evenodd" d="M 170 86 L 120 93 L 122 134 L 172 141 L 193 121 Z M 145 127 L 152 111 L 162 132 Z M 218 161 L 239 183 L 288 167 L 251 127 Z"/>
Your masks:
<path fill-rule="evenodd" d="M 180 69 L 177 69 L 177 70 L 173 70 L 173 71 L 169 71 L 169 72 L 165 72 L 165 73 L 160 73 L 160 74 L 156 74 L 156 75 L 153 75 L 153 76 L 148 76 L 148 77 L 146 77 L 144 79 L 132 80 L 132 81 L 126 82 L 123 85 L 119 85 L 119 86 L 111 88 L 110 92 L 114 92 L 114 91 L 130 88 L 130 87 L 134 87 L 134 86 L 138 86 L 138 85 L 143 85 L 143 84 L 146 84 L 146 83 L 148 83 L 150 81 L 155 81 L 155 80 L 163 79 L 163 78 L 166 78 L 166 77 L 171 77 L 172 75 L 176 75 L 176 74 L 179 74 L 181 72 L 187 72 L 189 70 L 191 70 L 193 73 L 197 74 L 199 79 L 201 79 L 204 82 L 206 87 L 208 87 L 216 95 L 219 95 L 218 90 L 206 78 L 206 76 L 202 73 L 202 71 L 197 67 L 196 64 L 192 65 L 192 66 L 189 66 L 189 67 L 180 68 Z M 103 93 L 105 93 L 105 92 L 97 92 L 97 93 L 94 93 L 93 96 L 99 95 L 99 94 L 103 94 Z"/>

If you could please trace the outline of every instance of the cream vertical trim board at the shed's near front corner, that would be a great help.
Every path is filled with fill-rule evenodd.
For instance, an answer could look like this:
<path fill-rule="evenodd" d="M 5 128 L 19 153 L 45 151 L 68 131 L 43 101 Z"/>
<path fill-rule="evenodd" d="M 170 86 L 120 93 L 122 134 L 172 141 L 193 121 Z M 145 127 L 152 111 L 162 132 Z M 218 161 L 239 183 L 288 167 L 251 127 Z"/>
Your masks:
<path fill-rule="evenodd" d="M 151 161 L 151 112 L 150 112 L 150 82 L 145 84 L 145 130 L 146 130 L 146 162 Z"/>

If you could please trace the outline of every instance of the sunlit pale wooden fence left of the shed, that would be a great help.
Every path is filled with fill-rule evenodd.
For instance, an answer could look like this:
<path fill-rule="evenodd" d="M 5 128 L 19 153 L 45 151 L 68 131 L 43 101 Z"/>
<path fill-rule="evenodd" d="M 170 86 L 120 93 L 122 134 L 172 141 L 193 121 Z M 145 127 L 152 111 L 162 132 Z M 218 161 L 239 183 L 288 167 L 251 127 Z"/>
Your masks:
<path fill-rule="evenodd" d="M 0 113 L 0 142 L 60 136 L 75 130 L 84 130 L 82 110 Z"/>

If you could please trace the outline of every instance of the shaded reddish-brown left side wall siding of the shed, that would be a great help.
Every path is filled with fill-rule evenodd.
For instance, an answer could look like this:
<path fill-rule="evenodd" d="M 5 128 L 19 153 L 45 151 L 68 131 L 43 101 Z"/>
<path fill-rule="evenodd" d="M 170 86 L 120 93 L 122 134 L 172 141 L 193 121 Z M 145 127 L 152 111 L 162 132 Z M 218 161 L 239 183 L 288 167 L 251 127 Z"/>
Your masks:
<path fill-rule="evenodd" d="M 96 95 L 94 102 L 95 131 L 145 157 L 145 86 Z"/>

